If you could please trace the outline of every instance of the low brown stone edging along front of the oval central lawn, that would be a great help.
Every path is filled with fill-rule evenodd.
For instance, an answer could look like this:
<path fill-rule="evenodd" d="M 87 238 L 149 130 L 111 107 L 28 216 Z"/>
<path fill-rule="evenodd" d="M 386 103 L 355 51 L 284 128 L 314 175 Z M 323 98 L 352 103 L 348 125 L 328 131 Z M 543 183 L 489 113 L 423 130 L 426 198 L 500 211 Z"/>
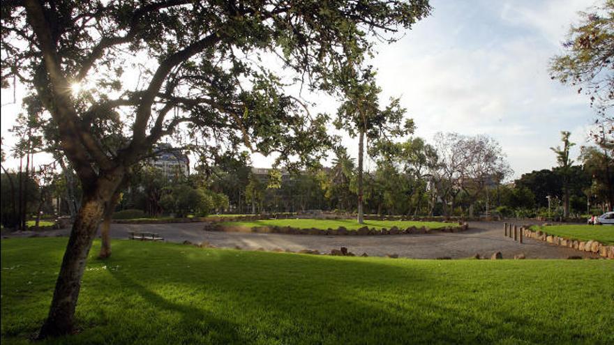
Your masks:
<path fill-rule="evenodd" d="M 345 227 L 338 229 L 301 229 L 294 227 L 241 227 L 232 225 L 207 224 L 204 226 L 204 231 L 226 231 L 226 232 L 247 232 L 247 233 L 286 233 L 290 235 L 320 235 L 320 236 L 382 236 L 382 235 L 403 235 L 403 234 L 421 234 L 434 232 L 460 232 L 469 229 L 469 224 L 466 222 L 459 224 L 456 227 L 443 227 L 440 229 L 429 229 L 427 227 L 407 227 L 399 229 L 398 227 L 382 228 L 381 230 L 368 227 L 361 227 L 357 230 L 348 230 Z"/>

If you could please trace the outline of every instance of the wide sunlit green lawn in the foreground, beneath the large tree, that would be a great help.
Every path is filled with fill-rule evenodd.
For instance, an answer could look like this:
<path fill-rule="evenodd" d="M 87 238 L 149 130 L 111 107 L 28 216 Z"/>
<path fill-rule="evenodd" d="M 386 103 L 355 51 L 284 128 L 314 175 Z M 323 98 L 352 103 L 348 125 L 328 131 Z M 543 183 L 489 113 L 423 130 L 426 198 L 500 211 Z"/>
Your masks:
<path fill-rule="evenodd" d="M 45 319 L 66 238 L 1 241 L 1 340 Z M 614 261 L 409 260 L 116 240 L 80 332 L 37 344 L 613 344 Z"/>

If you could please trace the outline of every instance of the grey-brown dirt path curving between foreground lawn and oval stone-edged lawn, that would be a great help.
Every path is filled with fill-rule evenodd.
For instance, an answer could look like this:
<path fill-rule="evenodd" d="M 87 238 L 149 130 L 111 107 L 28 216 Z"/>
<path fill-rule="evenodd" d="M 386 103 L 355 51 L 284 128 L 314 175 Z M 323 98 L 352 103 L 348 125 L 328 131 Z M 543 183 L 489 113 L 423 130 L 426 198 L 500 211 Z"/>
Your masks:
<path fill-rule="evenodd" d="M 239 246 L 246 250 L 319 250 L 330 252 L 332 249 L 347 247 L 350 252 L 360 255 L 384 256 L 398 254 L 415 259 L 435 259 L 449 256 L 453 259 L 467 258 L 480 254 L 490 257 L 494 252 L 502 252 L 503 257 L 511 259 L 516 254 L 525 254 L 527 259 L 566 259 L 567 256 L 599 257 L 557 247 L 548 243 L 525 238 L 523 244 L 503 236 L 502 222 L 471 222 L 470 229 L 461 233 L 433 233 L 428 235 L 391 235 L 391 236 L 308 236 L 285 235 L 278 233 L 224 233 L 203 231 L 202 223 L 182 224 L 112 224 L 113 238 L 128 238 L 129 231 L 160 233 L 169 242 L 192 243 L 207 241 L 216 247 Z M 24 232 L 18 236 L 31 236 Z M 66 236 L 68 229 L 45 231 L 45 236 Z M 11 236 L 16 237 L 17 234 Z"/>

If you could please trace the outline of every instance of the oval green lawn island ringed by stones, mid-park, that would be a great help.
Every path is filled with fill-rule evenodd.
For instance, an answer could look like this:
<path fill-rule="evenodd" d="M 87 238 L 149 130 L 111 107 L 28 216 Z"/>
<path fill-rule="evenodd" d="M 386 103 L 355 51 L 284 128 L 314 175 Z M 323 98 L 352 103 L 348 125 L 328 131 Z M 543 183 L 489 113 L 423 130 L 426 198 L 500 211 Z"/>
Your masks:
<path fill-rule="evenodd" d="M 375 229 L 398 227 L 405 229 L 407 227 L 427 227 L 430 229 L 439 229 L 442 227 L 454 227 L 458 224 L 444 222 L 414 222 L 400 220 L 365 220 L 364 224 L 358 224 L 356 220 L 316 220 L 316 219 L 285 219 L 285 220 L 253 220 L 250 222 L 223 222 L 221 225 L 232 225 L 236 227 L 294 227 L 300 229 L 337 229 L 345 227 L 348 230 L 357 230 L 361 227 L 369 227 Z"/>

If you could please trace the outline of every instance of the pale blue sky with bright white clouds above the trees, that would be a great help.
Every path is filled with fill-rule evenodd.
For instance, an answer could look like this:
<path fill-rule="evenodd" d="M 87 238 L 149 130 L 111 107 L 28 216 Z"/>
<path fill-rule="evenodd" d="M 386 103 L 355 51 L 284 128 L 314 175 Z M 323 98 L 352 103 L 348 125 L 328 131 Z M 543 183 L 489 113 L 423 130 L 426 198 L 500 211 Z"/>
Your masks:
<path fill-rule="evenodd" d="M 561 42 L 578 11 L 593 0 L 434 0 L 433 13 L 396 43 L 376 47 L 382 98 L 400 97 L 415 135 L 433 142 L 437 132 L 486 134 L 502 146 L 514 169 L 509 178 L 555 162 L 550 147 L 560 145 L 560 132 L 571 131 L 576 158 L 594 119 L 586 95 L 551 80 L 548 63 L 562 52 Z M 20 90 L 18 90 L 20 91 Z M 5 105 L 13 91 L 3 89 L 3 147 L 14 140 L 19 105 Z M 20 98 L 20 92 L 17 94 Z M 307 96 L 306 98 L 310 98 Z M 336 103 L 318 100 L 315 111 L 336 112 Z M 19 101 L 18 101 L 19 102 Z M 357 141 L 343 144 L 357 157 Z M 44 161 L 41 158 L 40 161 Z M 253 155 L 255 167 L 270 167 L 273 158 Z M 8 161 L 7 166 L 15 164 Z M 367 162 L 366 168 L 373 167 Z"/>

